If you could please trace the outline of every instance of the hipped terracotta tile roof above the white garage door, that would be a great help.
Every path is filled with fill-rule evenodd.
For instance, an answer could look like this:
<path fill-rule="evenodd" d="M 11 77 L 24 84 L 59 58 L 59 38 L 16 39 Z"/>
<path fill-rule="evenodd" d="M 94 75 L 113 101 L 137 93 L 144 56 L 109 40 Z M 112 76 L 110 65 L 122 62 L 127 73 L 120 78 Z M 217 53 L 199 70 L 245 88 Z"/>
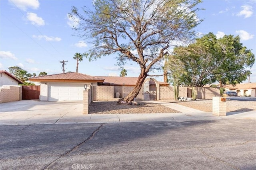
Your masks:
<path fill-rule="evenodd" d="M 104 79 L 94 76 L 89 76 L 87 74 L 82 74 L 78 72 L 68 72 L 68 73 L 61 73 L 61 74 L 52 74 L 47 76 L 38 76 L 32 77 L 29 80 L 101 80 Z"/>

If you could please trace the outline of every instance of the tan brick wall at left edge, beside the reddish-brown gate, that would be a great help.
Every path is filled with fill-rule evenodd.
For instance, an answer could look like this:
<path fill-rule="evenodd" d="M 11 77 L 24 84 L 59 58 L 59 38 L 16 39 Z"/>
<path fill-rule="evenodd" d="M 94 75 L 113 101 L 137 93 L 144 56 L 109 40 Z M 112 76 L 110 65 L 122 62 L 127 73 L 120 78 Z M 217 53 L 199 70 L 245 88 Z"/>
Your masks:
<path fill-rule="evenodd" d="M 0 103 L 14 102 L 21 99 L 21 86 L 2 86 L 2 88 L 0 88 Z"/>

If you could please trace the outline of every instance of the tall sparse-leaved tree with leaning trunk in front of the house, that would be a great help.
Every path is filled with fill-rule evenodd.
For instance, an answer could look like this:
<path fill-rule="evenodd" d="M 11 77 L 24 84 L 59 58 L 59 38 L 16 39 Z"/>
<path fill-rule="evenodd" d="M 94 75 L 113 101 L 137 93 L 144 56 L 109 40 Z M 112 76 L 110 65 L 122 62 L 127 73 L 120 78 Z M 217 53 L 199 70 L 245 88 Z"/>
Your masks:
<path fill-rule="evenodd" d="M 134 89 L 123 100 L 132 101 L 140 92 L 148 73 L 160 63 L 176 41 L 194 37 L 198 20 L 196 5 L 201 0 L 95 0 L 94 10 L 73 7 L 69 17 L 80 22 L 78 36 L 94 44 L 89 61 L 113 53 L 118 65 L 126 59 L 140 66 Z"/>

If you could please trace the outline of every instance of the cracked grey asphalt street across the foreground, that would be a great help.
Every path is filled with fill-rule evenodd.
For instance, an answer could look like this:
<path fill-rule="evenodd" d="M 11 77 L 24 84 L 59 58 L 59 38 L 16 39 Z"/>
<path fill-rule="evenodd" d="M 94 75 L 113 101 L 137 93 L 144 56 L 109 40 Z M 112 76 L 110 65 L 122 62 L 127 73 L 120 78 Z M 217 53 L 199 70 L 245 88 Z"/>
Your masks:
<path fill-rule="evenodd" d="M 0 169 L 255 170 L 255 119 L 0 126 Z"/>

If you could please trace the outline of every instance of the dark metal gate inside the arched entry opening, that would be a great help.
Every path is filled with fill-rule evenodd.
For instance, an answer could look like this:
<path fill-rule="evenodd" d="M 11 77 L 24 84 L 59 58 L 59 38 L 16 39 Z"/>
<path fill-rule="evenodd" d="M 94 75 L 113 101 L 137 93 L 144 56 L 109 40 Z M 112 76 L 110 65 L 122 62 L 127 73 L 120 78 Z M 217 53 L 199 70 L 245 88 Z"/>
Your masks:
<path fill-rule="evenodd" d="M 143 87 L 144 100 L 156 100 L 156 84 L 154 81 L 146 81 Z"/>

